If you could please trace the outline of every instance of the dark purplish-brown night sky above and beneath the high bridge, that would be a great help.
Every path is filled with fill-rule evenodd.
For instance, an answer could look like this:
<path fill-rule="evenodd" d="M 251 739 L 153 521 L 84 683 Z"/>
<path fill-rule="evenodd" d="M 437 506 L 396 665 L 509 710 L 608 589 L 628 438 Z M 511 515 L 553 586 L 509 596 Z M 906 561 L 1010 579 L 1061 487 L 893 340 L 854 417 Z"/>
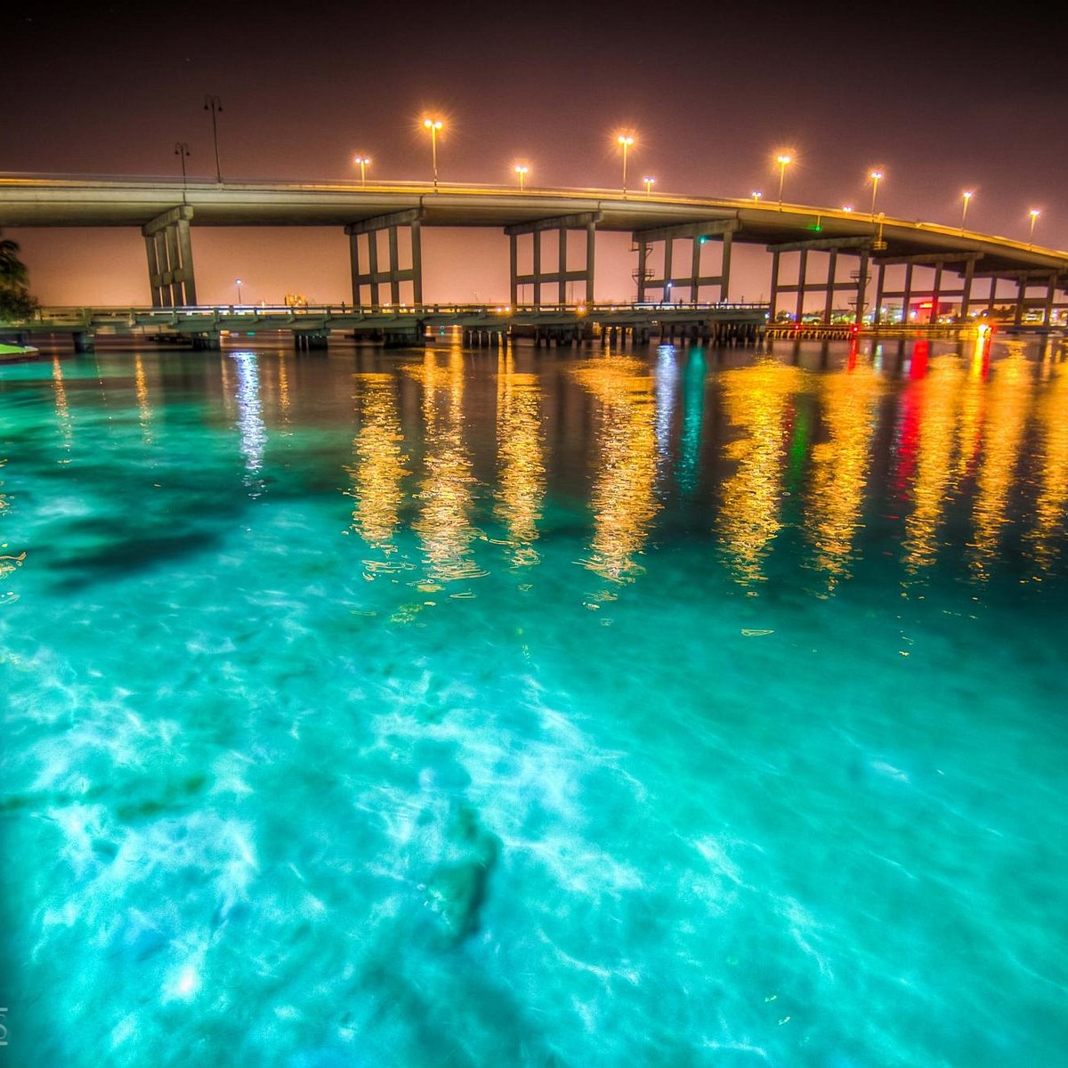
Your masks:
<path fill-rule="evenodd" d="M 1038 208 L 1035 244 L 1068 249 L 1068 79 L 1061 27 L 1042 21 L 1053 9 L 863 7 L 29 4 L 4 23 L 0 171 L 177 177 L 182 141 L 190 175 L 209 178 L 214 94 L 224 179 L 358 180 L 356 153 L 373 159 L 368 180 L 428 179 L 420 120 L 434 113 L 446 124 L 443 183 L 515 185 L 522 161 L 531 188 L 615 187 L 614 137 L 628 128 L 631 188 L 650 174 L 663 193 L 774 199 L 774 157 L 789 148 L 789 202 L 867 210 L 879 168 L 889 217 L 955 225 L 971 189 L 969 229 L 1026 240 Z M 46 302 L 147 299 L 136 232 L 5 236 Z M 233 299 L 235 272 L 250 300 L 294 287 L 350 299 L 341 234 L 193 239 L 203 300 Z M 606 297 L 628 295 L 627 248 L 606 242 Z M 496 231 L 428 232 L 425 249 L 427 299 L 506 294 Z M 87 274 L 72 276 L 72 252 Z"/>

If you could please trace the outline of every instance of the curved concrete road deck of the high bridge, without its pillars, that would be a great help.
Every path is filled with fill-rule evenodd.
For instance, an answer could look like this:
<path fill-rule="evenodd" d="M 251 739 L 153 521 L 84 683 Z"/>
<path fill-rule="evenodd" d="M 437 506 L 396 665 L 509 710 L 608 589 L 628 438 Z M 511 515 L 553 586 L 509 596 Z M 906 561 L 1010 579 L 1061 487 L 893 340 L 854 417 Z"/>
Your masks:
<path fill-rule="evenodd" d="M 865 213 L 801 204 L 765 204 L 609 189 L 506 189 L 500 186 L 427 183 L 215 183 L 160 178 L 90 178 L 0 174 L 0 227 L 142 226 L 171 208 L 188 204 L 193 226 L 346 226 L 421 208 L 426 226 L 501 227 L 599 211 L 597 229 L 633 233 L 690 223 L 737 220 L 734 240 L 774 246 L 838 238 L 886 242 L 877 260 L 980 253 L 977 272 L 1030 270 L 1068 281 L 1068 252 L 1028 248 L 1006 237 L 959 226 L 904 219 L 875 219 Z M 817 229 L 818 227 L 818 229 Z"/>

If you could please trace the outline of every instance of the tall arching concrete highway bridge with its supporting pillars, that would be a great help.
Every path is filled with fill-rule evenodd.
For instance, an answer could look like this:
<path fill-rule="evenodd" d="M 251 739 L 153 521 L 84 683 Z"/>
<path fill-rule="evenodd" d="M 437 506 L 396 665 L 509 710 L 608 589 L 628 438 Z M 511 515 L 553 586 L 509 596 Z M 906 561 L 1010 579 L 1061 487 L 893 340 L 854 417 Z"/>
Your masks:
<path fill-rule="evenodd" d="M 600 231 L 630 234 L 639 308 L 685 300 L 690 310 L 719 305 L 732 312 L 731 253 L 735 242 L 743 242 L 761 246 L 770 256 L 772 321 L 788 314 L 798 323 L 808 317 L 830 325 L 842 318 L 843 303 L 858 325 L 866 310 L 876 325 L 893 314 L 888 309 L 899 309 L 906 321 L 916 308 L 929 309 L 932 320 L 943 309 L 968 320 L 1007 302 L 1017 326 L 1050 325 L 1068 311 L 1066 252 L 882 213 L 755 200 L 426 183 L 0 174 L 4 226 L 139 227 L 156 309 L 200 307 L 197 227 L 318 226 L 334 227 L 348 239 L 354 309 L 376 315 L 404 308 L 414 316 L 425 309 L 422 229 L 481 226 L 507 238 L 509 307 L 519 307 L 520 287 L 529 286 L 532 314 L 563 308 L 576 285 L 580 304 L 574 314 L 597 305 Z M 578 263 L 568 242 L 575 231 L 585 235 Z M 555 249 L 544 256 L 546 238 Z M 519 269 L 520 251 L 530 270 Z M 749 314 L 738 324 L 748 323 Z M 653 317 L 645 315 L 643 323 Z"/>

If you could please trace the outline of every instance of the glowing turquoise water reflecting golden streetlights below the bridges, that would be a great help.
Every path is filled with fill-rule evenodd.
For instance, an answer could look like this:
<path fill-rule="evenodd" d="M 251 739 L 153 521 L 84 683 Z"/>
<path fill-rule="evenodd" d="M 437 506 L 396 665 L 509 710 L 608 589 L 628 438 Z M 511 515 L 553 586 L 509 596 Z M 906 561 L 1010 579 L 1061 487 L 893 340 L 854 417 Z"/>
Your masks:
<path fill-rule="evenodd" d="M 1056 344 L 0 366 L 0 1064 L 1068 1064 L 1066 502 Z"/>

